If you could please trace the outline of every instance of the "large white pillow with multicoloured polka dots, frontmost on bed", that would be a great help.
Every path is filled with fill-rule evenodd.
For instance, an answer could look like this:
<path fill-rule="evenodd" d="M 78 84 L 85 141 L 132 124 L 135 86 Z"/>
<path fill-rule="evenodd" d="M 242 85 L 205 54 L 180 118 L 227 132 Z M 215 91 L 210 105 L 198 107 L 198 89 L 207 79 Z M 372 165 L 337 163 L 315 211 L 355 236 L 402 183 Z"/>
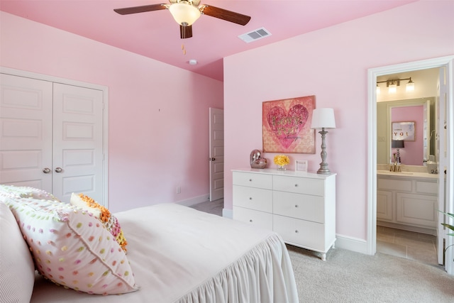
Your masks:
<path fill-rule="evenodd" d="M 89 294 L 138 290 L 126 253 L 99 219 L 71 204 L 7 199 L 41 275 Z"/>

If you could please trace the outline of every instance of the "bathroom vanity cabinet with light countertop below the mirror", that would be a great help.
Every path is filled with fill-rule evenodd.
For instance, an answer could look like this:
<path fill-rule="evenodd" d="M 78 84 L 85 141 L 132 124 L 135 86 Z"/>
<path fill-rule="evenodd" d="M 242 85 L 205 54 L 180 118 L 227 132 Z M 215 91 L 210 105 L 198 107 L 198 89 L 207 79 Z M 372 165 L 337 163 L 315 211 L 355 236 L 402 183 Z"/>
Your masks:
<path fill-rule="evenodd" d="M 377 171 L 377 225 L 436 236 L 437 209 L 438 175 Z"/>

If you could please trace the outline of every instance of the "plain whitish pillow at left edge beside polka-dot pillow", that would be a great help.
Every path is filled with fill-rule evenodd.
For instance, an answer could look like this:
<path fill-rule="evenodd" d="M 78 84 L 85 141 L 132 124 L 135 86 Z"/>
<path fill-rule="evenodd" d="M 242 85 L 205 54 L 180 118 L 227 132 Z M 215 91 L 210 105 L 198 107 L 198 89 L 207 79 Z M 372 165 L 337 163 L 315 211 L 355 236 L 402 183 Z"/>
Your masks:
<path fill-rule="evenodd" d="M 30 302 L 35 265 L 16 218 L 0 202 L 0 302 Z"/>

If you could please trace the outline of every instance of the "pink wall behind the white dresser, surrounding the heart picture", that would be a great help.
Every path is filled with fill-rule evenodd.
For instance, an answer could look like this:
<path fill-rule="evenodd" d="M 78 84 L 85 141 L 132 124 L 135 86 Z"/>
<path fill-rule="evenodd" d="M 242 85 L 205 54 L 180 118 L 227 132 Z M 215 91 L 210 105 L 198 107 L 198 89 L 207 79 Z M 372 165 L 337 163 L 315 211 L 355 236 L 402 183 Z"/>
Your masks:
<path fill-rule="evenodd" d="M 364 243 L 367 69 L 453 55 L 453 9 L 453 1 L 418 1 L 226 57 L 225 207 L 232 208 L 231 170 L 249 167 L 250 151 L 262 148 L 262 102 L 315 95 L 316 107 L 331 107 L 336 115 L 337 128 L 326 137 L 327 162 L 338 174 L 336 233 Z M 309 160 L 311 171 L 321 161 L 316 135 L 316 154 L 289 154 Z"/>

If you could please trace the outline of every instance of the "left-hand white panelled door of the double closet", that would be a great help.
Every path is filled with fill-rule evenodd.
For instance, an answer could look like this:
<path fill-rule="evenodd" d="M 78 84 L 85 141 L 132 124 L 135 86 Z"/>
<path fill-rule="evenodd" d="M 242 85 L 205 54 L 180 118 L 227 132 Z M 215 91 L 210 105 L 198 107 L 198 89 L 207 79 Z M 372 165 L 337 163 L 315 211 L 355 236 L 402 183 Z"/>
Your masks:
<path fill-rule="evenodd" d="M 52 82 L 0 74 L 0 183 L 52 192 Z"/>

